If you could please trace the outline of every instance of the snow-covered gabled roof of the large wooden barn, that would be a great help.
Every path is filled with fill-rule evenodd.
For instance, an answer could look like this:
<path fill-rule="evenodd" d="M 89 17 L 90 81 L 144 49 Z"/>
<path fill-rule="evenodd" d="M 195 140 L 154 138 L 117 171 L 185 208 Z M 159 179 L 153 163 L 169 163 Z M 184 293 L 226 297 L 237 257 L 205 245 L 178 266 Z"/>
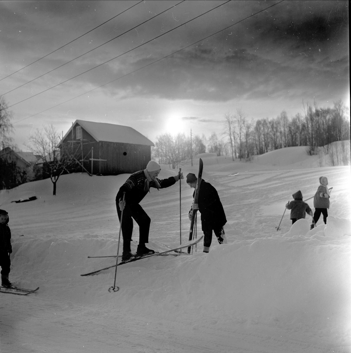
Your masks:
<path fill-rule="evenodd" d="M 106 141 L 154 146 L 153 142 L 130 126 L 86 120 L 76 120 L 61 142 L 69 135 L 77 124 L 82 126 L 82 128 L 84 128 L 84 130 L 87 131 L 97 142 Z"/>

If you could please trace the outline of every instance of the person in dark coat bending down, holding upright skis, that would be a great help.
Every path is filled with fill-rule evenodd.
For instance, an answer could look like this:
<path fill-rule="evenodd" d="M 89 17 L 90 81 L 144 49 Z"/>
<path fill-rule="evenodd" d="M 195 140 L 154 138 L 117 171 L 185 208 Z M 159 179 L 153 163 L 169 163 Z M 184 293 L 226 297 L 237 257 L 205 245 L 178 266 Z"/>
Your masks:
<path fill-rule="evenodd" d="M 193 173 L 186 176 L 186 183 L 196 189 L 197 178 Z M 195 197 L 195 191 L 192 197 Z M 189 211 L 189 219 L 192 217 L 192 210 L 199 210 L 201 213 L 201 227 L 204 234 L 203 252 L 209 252 L 212 242 L 212 231 L 216 235 L 219 244 L 227 244 L 223 226 L 227 223 L 222 203 L 217 190 L 201 179 L 200 191 L 197 204 L 193 203 Z"/>

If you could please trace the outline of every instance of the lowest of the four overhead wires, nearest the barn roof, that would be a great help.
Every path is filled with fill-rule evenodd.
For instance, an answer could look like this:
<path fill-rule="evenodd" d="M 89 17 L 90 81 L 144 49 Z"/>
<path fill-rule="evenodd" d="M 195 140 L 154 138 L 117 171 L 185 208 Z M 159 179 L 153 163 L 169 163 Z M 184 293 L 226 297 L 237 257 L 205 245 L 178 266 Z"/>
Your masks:
<path fill-rule="evenodd" d="M 55 108 L 55 107 L 58 107 L 58 106 L 60 106 L 61 104 L 65 104 L 65 103 L 67 103 L 67 102 L 70 102 L 70 101 L 72 101 L 72 100 L 74 100 L 74 99 L 76 99 L 76 98 L 78 98 L 78 97 L 84 96 L 84 95 L 87 94 L 87 93 L 90 93 L 90 92 L 92 92 L 92 91 L 95 91 L 95 90 L 98 89 L 98 88 L 101 88 L 101 87 L 103 87 L 103 86 L 106 86 L 106 85 L 108 85 L 108 84 L 110 84 L 110 83 L 112 83 L 112 82 L 115 82 L 115 81 L 117 81 L 117 80 L 119 80 L 119 79 L 121 79 L 121 78 L 124 78 L 124 77 L 126 77 L 126 76 L 128 76 L 128 75 L 130 75 L 130 74 L 132 74 L 132 73 L 134 73 L 134 72 L 137 72 L 137 71 L 139 71 L 139 70 L 142 70 L 142 69 L 145 68 L 145 67 L 148 67 L 148 66 L 150 66 L 150 65 L 153 65 L 153 64 L 155 64 L 156 62 L 161 61 L 161 60 L 163 60 L 163 59 L 166 59 L 166 58 L 168 58 L 169 56 L 172 56 L 173 54 L 179 53 L 179 52 L 181 52 L 182 50 L 184 50 L 184 49 L 186 49 L 186 48 L 189 48 L 189 47 L 193 46 L 194 44 L 196 44 L 196 43 L 198 43 L 198 42 L 202 42 L 202 41 L 208 39 L 209 37 L 212 37 L 212 36 L 214 36 L 214 35 L 216 35 L 216 34 L 222 32 L 222 31 L 224 31 L 224 30 L 226 30 L 226 29 L 228 29 L 228 28 L 231 28 L 232 26 L 235 26 L 235 25 L 237 25 L 238 23 L 243 22 L 243 21 L 247 20 L 248 18 L 257 15 L 258 13 L 261 13 L 261 12 L 263 12 L 263 11 L 266 11 L 266 10 L 268 10 L 268 8 L 273 7 L 273 6 L 275 6 L 275 5 L 278 5 L 278 4 L 280 4 L 281 2 L 283 2 L 283 1 L 284 1 L 284 0 L 281 0 L 281 1 L 277 2 L 276 4 L 270 5 L 270 6 L 266 7 L 266 8 L 264 8 L 263 10 L 260 10 L 260 11 L 258 11 L 258 12 L 255 12 L 255 13 L 251 14 L 250 16 L 247 16 L 247 17 L 243 18 L 242 20 L 239 20 L 239 21 L 236 22 L 236 23 L 233 23 L 233 24 L 231 24 L 230 26 L 227 26 L 226 28 L 223 28 L 223 29 L 221 29 L 221 30 L 219 30 L 219 31 L 217 31 L 217 32 L 215 32 L 215 33 L 213 33 L 213 34 L 208 35 L 207 37 L 204 37 L 204 38 L 202 38 L 202 39 L 200 39 L 200 40 L 197 40 L 196 42 L 191 43 L 191 44 L 189 44 L 188 46 L 186 46 L 186 47 L 184 47 L 184 48 L 182 48 L 182 49 L 178 49 L 178 50 L 176 50 L 175 52 L 173 52 L 173 53 L 171 53 L 171 54 L 168 54 L 168 55 L 166 55 L 166 56 L 163 56 L 163 57 L 160 58 L 160 59 L 157 59 L 157 60 L 155 60 L 155 61 L 153 61 L 153 62 L 150 62 L 150 63 L 147 64 L 147 65 L 144 65 L 144 66 L 142 66 L 142 67 L 139 67 L 138 69 L 133 70 L 133 71 L 131 71 L 131 72 L 129 72 L 129 73 L 123 75 L 123 76 L 120 76 L 120 77 L 118 77 L 118 78 L 115 78 L 115 79 L 113 79 L 113 80 L 111 80 L 111 81 L 109 81 L 109 82 L 107 82 L 107 83 L 104 83 L 103 85 L 100 85 L 100 86 L 98 86 L 98 87 L 95 87 L 95 88 L 93 88 L 93 89 L 91 89 L 91 90 L 89 90 L 89 91 L 86 91 L 86 92 L 84 92 L 84 93 L 82 93 L 82 94 L 79 94 L 78 96 L 75 96 L 75 97 L 73 97 L 73 98 L 70 98 L 70 99 L 68 99 L 68 100 L 66 100 L 66 101 L 64 101 L 64 102 L 59 103 L 59 104 L 56 104 L 56 105 L 53 106 L 53 107 L 44 109 L 44 110 L 42 110 L 41 112 L 38 112 L 38 113 L 32 114 L 32 115 L 30 115 L 30 116 L 27 116 L 26 118 L 21 119 L 21 120 L 18 120 L 18 121 L 16 121 L 16 122 L 14 122 L 13 124 L 17 124 L 17 122 L 21 122 L 21 121 L 23 121 L 23 120 L 32 118 L 32 116 L 35 116 L 35 115 L 38 115 L 38 114 L 47 112 L 48 110 L 53 109 L 53 108 Z"/>

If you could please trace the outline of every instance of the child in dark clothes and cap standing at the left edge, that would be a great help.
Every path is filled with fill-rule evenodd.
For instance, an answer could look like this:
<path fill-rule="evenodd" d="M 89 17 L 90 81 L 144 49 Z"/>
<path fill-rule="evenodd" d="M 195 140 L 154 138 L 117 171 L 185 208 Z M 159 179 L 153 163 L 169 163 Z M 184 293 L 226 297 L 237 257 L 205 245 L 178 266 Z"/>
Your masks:
<path fill-rule="evenodd" d="M 0 266 L 1 266 L 1 286 L 11 287 L 12 284 L 8 280 L 10 273 L 10 254 L 12 253 L 11 246 L 11 231 L 8 223 L 8 214 L 5 210 L 0 210 Z"/>

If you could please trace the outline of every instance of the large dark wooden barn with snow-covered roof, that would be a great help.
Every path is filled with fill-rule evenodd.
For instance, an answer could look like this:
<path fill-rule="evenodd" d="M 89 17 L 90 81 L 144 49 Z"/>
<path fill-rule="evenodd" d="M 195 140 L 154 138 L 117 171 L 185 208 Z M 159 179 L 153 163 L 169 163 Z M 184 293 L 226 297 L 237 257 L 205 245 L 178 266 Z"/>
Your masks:
<path fill-rule="evenodd" d="M 77 171 L 117 175 L 145 169 L 154 144 L 132 127 L 76 120 L 58 145 L 77 162 Z"/>

